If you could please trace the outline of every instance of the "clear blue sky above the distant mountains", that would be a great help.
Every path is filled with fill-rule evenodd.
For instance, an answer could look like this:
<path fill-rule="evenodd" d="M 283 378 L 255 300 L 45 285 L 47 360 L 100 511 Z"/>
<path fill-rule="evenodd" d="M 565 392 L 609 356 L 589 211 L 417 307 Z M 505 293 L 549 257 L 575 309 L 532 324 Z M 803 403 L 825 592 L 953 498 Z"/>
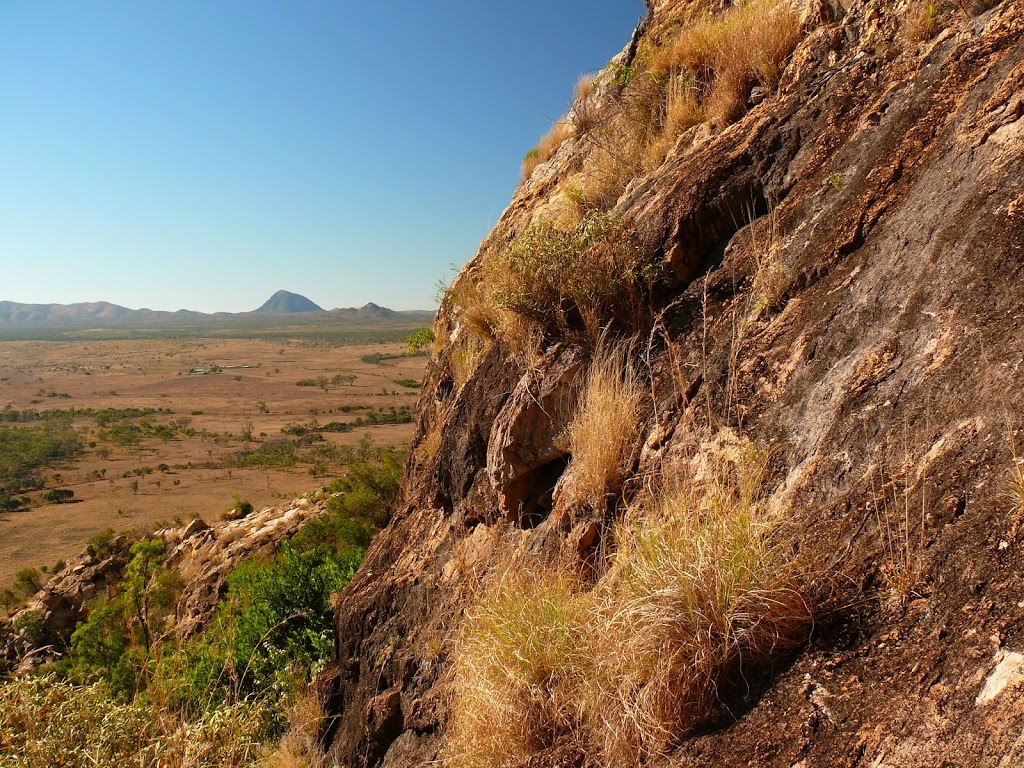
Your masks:
<path fill-rule="evenodd" d="M 432 307 L 641 0 L 0 0 L 0 300 Z"/>

